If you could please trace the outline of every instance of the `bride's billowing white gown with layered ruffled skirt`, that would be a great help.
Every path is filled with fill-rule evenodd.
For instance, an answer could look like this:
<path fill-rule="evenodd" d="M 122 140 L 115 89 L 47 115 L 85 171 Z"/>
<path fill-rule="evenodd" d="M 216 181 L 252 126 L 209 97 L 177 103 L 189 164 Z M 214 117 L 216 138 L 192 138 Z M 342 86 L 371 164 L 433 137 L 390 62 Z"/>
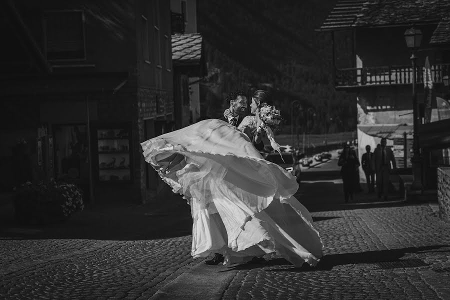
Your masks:
<path fill-rule="evenodd" d="M 218 119 L 199 121 L 141 143 L 143 156 L 193 218 L 193 257 L 224 255 L 242 263 L 276 251 L 294 265 L 315 265 L 323 244 L 308 210 L 293 194 L 295 177 L 266 161 L 248 136 Z M 184 167 L 163 173 L 158 161 L 179 153 Z"/>

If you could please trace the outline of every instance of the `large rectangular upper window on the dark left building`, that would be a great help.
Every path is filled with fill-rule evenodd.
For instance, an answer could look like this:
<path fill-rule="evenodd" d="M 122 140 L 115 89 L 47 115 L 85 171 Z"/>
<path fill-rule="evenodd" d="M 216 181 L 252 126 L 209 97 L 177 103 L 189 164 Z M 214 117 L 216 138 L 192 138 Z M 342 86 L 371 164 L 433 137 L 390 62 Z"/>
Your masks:
<path fill-rule="evenodd" d="M 82 11 L 49 11 L 44 16 L 48 60 L 85 59 Z"/>

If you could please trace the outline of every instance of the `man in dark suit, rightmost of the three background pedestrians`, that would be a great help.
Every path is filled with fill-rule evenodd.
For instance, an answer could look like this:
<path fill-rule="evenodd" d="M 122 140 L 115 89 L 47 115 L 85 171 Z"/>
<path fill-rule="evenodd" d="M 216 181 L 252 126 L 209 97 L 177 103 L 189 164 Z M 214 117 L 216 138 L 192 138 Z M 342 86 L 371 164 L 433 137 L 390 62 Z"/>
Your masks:
<path fill-rule="evenodd" d="M 384 200 L 387 200 L 387 192 L 390 183 L 389 174 L 392 170 L 396 169 L 393 152 L 389 147 L 386 147 L 386 143 L 386 138 L 381 138 L 380 147 L 375 149 L 372 156 L 372 165 L 376 174 L 378 198 L 383 196 Z"/>

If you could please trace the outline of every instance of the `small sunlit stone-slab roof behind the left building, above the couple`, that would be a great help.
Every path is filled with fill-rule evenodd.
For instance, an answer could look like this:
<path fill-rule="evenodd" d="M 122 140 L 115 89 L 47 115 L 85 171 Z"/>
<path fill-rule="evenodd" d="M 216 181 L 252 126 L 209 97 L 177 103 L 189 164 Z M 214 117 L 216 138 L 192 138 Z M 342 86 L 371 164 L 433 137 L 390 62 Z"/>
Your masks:
<path fill-rule="evenodd" d="M 200 33 L 172 35 L 172 60 L 174 64 L 199 64 L 202 37 Z"/>

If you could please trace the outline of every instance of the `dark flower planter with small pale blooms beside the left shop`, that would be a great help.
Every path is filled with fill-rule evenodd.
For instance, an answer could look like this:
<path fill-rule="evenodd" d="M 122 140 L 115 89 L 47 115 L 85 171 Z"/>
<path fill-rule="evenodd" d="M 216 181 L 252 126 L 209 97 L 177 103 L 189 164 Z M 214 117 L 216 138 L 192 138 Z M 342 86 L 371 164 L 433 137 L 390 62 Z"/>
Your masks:
<path fill-rule="evenodd" d="M 82 191 L 74 184 L 26 182 L 16 188 L 15 218 L 22 224 L 48 224 L 66 220 L 84 209 Z"/>

